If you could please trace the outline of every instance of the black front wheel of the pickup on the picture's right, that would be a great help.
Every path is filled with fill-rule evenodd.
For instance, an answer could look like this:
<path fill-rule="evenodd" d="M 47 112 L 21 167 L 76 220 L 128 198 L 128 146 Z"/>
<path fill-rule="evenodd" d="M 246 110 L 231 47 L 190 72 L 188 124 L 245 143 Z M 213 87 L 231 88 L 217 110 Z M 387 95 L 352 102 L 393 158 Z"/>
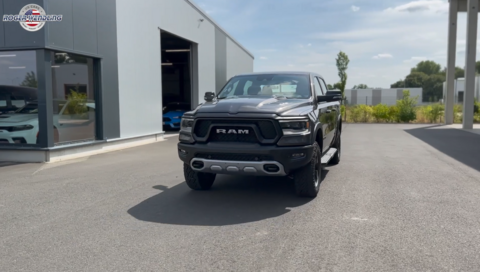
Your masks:
<path fill-rule="evenodd" d="M 313 144 L 312 160 L 299 169 L 294 175 L 295 190 L 301 197 L 316 197 L 322 182 L 320 146 L 317 142 Z"/>

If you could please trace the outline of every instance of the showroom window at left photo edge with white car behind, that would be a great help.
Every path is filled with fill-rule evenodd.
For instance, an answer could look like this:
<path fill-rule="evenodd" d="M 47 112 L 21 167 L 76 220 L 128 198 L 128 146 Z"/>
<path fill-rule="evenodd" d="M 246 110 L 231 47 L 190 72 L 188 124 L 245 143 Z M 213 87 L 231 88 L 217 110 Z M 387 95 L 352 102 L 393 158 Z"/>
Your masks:
<path fill-rule="evenodd" d="M 35 51 L 0 51 L 0 145 L 37 144 Z"/>

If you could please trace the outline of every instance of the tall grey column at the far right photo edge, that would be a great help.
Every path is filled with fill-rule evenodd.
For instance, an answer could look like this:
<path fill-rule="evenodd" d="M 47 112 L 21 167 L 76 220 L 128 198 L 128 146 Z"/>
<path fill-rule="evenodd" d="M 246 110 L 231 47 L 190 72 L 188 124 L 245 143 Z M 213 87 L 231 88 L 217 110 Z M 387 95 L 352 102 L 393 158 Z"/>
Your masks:
<path fill-rule="evenodd" d="M 477 59 L 478 0 L 467 4 L 467 46 L 465 50 L 465 93 L 463 96 L 463 129 L 473 129 L 475 100 L 475 63 Z"/>

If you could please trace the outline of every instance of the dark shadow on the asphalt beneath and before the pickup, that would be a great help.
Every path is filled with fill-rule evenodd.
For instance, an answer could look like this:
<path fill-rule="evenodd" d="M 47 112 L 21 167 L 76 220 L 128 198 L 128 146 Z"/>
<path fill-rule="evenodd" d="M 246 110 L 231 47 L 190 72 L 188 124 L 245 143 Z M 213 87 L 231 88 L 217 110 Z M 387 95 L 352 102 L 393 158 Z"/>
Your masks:
<path fill-rule="evenodd" d="M 297 197 L 287 178 L 217 176 L 210 191 L 192 191 L 185 182 L 153 188 L 161 192 L 128 210 L 130 215 L 162 224 L 225 226 L 278 217 L 312 201 Z"/>

